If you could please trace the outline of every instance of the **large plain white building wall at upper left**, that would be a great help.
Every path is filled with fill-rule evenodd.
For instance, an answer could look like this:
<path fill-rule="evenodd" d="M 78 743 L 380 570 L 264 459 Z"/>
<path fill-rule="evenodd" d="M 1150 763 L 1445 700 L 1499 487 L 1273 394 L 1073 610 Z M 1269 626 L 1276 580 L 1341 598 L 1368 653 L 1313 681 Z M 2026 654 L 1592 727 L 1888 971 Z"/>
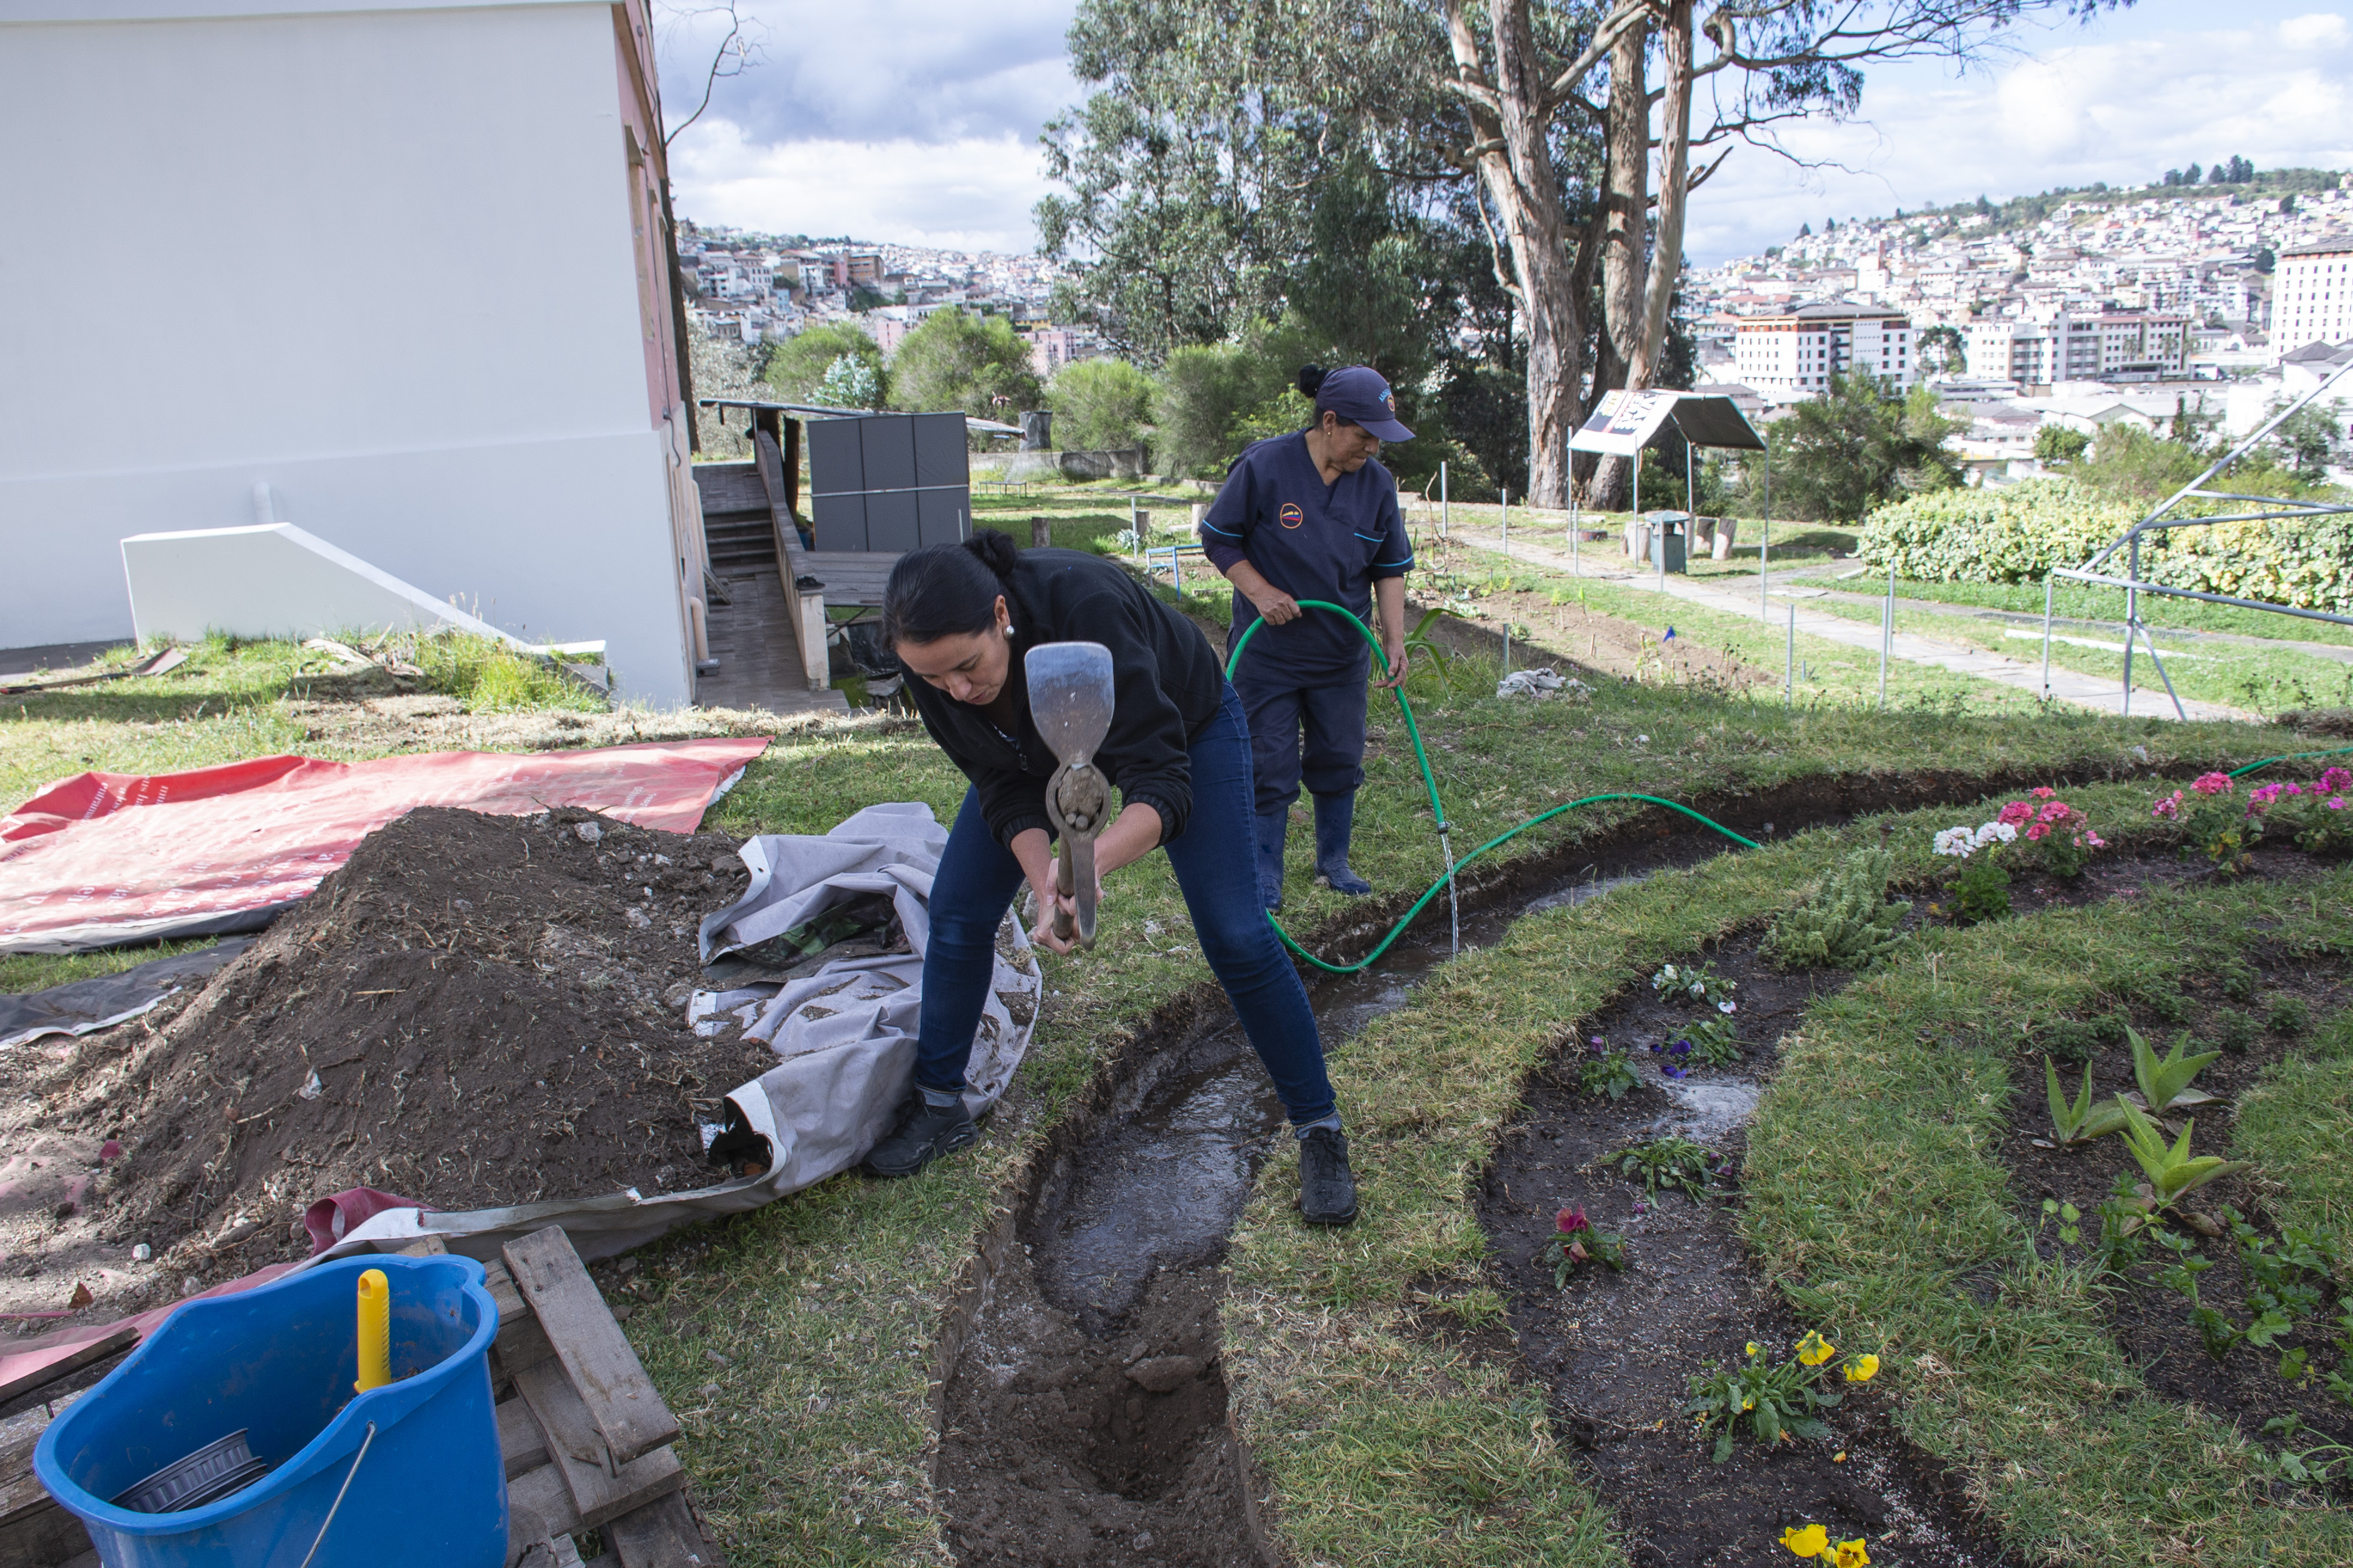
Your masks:
<path fill-rule="evenodd" d="M 71 9 L 132 19 L 0 21 L 0 644 L 127 637 L 118 541 L 252 524 L 268 482 L 687 701 L 612 9 Z M 515 252 L 562 266 L 513 289 Z"/>

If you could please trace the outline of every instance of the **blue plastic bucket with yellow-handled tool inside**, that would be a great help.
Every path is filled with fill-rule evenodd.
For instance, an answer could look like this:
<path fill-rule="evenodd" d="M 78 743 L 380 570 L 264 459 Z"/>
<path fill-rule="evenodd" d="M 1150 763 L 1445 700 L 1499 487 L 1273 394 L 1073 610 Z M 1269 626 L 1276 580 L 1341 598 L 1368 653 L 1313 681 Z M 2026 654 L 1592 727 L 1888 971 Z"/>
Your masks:
<path fill-rule="evenodd" d="M 365 1269 L 391 1281 L 393 1382 L 353 1394 Z M 301 1568 L 313 1542 L 313 1568 L 501 1568 L 496 1333 L 471 1258 L 341 1258 L 188 1302 L 49 1422 L 33 1472 L 89 1526 L 106 1568 Z M 179 1514 L 111 1502 L 238 1429 L 271 1465 L 252 1486 Z"/>

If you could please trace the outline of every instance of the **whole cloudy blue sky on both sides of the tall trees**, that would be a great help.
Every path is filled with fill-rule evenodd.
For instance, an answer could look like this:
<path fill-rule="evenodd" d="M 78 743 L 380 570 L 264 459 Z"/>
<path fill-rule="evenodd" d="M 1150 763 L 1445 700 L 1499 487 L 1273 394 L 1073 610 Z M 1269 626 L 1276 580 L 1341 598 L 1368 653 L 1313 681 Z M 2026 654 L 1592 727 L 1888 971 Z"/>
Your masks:
<path fill-rule="evenodd" d="M 1064 59 L 1073 0 L 741 0 L 762 40 L 678 139 L 678 209 L 704 223 L 967 249 L 1035 244 L 1038 132 L 1080 85 Z M 664 101 L 701 99 L 725 28 L 668 9 Z M 2353 19 L 2313 0 L 2141 0 L 2087 28 L 2026 28 L 1953 75 L 1868 78 L 1861 122 L 1800 122 L 1788 153 L 1739 148 L 1692 197 L 1692 261 L 1800 223 L 2002 197 L 2247 155 L 2353 167 Z"/>

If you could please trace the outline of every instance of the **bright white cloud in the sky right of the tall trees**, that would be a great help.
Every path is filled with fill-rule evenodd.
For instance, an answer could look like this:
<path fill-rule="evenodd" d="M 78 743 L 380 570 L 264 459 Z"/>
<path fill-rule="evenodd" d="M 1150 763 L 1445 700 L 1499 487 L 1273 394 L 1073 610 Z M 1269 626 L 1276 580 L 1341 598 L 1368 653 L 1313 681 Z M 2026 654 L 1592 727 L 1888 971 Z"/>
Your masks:
<path fill-rule="evenodd" d="M 2217 158 L 2264 169 L 2353 165 L 2353 28 L 2337 14 L 2264 19 L 2264 9 L 2235 7 L 2247 21 L 2228 31 L 2042 47 L 1960 80 L 1929 66 L 1882 68 L 1861 122 L 1807 120 L 1781 136 L 1824 167 L 1762 148 L 1732 155 L 1692 197 L 1692 261 L 1753 254 L 1826 216 L 2137 186 Z"/>

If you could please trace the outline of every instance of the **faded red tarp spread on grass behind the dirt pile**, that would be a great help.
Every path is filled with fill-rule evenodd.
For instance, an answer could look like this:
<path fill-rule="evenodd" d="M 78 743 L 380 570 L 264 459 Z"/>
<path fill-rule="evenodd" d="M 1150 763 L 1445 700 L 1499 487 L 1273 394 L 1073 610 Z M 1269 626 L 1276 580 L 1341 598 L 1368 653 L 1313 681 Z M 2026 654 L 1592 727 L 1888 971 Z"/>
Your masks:
<path fill-rule="evenodd" d="M 414 806 L 527 816 L 588 806 L 694 832 L 767 748 L 649 741 L 579 752 L 256 757 L 188 773 L 78 773 L 0 818 L 0 952 L 78 952 L 252 931 Z"/>

